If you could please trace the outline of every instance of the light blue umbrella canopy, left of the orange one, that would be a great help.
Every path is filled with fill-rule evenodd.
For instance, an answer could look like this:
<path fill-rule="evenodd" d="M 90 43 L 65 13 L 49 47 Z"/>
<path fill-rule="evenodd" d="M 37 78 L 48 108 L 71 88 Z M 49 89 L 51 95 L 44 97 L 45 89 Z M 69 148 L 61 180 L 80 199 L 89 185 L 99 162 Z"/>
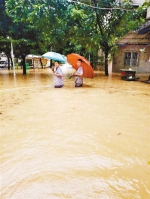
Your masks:
<path fill-rule="evenodd" d="M 56 53 L 56 52 L 47 52 L 47 53 L 43 54 L 42 57 L 47 58 L 47 59 L 52 59 L 55 61 L 66 62 L 63 55 Z"/>

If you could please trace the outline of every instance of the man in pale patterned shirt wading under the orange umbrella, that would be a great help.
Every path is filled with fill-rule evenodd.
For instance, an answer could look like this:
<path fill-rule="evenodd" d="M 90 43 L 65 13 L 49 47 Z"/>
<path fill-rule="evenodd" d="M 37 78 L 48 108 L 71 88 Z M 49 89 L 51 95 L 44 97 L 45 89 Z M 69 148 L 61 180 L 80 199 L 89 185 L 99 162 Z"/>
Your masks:
<path fill-rule="evenodd" d="M 75 76 L 75 87 L 81 87 L 83 85 L 82 59 L 78 59 L 77 67 L 77 71 L 73 73 L 72 76 Z"/>

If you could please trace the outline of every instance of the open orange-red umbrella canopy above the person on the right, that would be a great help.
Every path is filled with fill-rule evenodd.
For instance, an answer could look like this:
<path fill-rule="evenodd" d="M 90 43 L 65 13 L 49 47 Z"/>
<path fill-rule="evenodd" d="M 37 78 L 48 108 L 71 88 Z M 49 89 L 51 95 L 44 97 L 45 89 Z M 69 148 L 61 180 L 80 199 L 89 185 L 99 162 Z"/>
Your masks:
<path fill-rule="evenodd" d="M 83 67 L 83 76 L 87 78 L 93 78 L 94 76 L 94 71 L 92 66 L 90 65 L 90 62 L 85 59 L 85 57 L 79 55 L 79 54 L 68 54 L 67 55 L 67 60 L 68 62 L 72 65 L 74 69 L 78 69 L 77 67 L 77 61 L 78 59 L 82 59 L 82 67 Z"/>

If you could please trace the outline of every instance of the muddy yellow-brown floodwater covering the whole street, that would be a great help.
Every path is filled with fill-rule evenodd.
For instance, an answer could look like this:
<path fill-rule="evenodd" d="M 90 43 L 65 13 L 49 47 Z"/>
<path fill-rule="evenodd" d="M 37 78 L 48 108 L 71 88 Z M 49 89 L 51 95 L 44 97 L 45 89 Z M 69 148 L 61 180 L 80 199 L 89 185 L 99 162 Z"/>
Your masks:
<path fill-rule="evenodd" d="M 149 199 L 150 84 L 63 72 L 0 70 L 0 198 Z"/>

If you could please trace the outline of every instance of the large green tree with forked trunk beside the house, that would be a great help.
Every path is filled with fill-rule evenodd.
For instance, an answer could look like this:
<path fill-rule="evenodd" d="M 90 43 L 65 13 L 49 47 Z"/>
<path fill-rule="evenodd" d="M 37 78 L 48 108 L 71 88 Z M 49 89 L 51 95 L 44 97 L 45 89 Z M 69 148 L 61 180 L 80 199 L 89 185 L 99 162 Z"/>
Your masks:
<path fill-rule="evenodd" d="M 82 0 L 76 4 L 77 9 L 84 10 L 84 14 L 88 16 L 88 20 L 82 23 L 82 29 L 88 32 L 87 27 L 91 28 L 89 33 L 91 43 L 94 45 L 97 43 L 105 54 L 106 76 L 108 76 L 108 55 L 114 52 L 116 40 L 129 30 L 137 28 L 145 20 L 141 15 L 146 13 L 146 6 L 139 13 L 131 3 L 130 0 L 124 1 L 123 5 L 116 0 Z"/>

